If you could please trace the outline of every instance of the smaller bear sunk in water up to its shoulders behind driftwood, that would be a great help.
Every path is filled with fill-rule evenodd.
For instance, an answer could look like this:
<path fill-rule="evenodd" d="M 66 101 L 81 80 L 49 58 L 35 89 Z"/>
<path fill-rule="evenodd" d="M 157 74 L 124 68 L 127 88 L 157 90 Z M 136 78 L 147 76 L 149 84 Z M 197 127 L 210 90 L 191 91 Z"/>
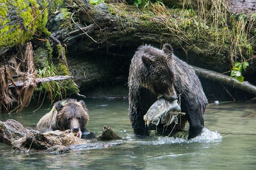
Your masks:
<path fill-rule="evenodd" d="M 52 110 L 39 120 L 37 128 L 41 133 L 69 129 L 81 138 L 82 133 L 88 132 L 86 130 L 88 120 L 88 110 L 84 101 L 68 99 L 56 102 Z"/>

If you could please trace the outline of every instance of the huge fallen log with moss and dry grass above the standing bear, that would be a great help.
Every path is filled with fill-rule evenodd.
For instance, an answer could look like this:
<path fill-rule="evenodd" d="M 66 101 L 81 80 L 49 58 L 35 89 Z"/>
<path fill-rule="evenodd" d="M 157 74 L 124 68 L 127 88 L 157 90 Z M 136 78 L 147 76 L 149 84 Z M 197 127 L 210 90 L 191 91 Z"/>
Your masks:
<path fill-rule="evenodd" d="M 190 64 L 214 67 L 220 72 L 230 70 L 229 42 L 222 44 L 222 41 L 216 40 L 218 35 L 210 27 L 198 27 L 197 24 L 201 22 L 199 20 L 182 20 L 181 16 L 176 16 L 175 12 L 170 10 L 170 16 L 157 12 L 141 12 L 125 3 L 102 3 L 94 6 L 88 0 L 73 2 L 77 8 L 71 7 L 65 12 L 59 12 L 48 22 L 48 30 L 66 44 L 69 56 L 84 56 L 91 51 L 103 50 L 108 53 L 108 50 L 115 46 L 138 47 L 142 44 L 152 44 L 160 47 L 168 42 L 174 49 L 179 49 L 176 54 L 181 53 L 180 55 L 184 56 L 182 59 Z M 170 8 L 173 7 L 173 4 L 171 5 Z M 63 24 L 65 26 L 56 27 Z M 220 44 L 214 45 L 216 41 Z M 126 52 L 124 57 L 129 57 L 128 55 Z"/>

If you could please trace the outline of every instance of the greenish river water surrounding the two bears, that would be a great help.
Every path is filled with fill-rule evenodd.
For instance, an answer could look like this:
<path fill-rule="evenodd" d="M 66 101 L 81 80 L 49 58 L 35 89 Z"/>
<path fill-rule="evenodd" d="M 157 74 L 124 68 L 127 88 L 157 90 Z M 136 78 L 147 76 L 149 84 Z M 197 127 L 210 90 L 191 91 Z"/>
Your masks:
<path fill-rule="evenodd" d="M 256 169 L 256 104 L 220 102 L 204 114 L 203 133 L 192 139 L 152 134 L 138 138 L 128 118 L 128 100 L 85 100 L 90 121 L 87 129 L 100 135 L 108 125 L 122 140 L 91 143 L 110 144 L 62 154 L 15 152 L 0 143 L 0 169 L 88 169 L 88 170 L 248 170 Z M 34 128 L 49 110 L 33 106 L 22 113 L 0 115 Z"/>

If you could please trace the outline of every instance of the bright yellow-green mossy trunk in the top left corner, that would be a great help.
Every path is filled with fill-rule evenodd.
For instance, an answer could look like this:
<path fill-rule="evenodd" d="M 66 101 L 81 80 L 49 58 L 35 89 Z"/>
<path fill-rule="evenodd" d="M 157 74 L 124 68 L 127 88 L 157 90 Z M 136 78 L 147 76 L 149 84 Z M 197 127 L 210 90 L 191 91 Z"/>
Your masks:
<path fill-rule="evenodd" d="M 25 44 L 38 30 L 47 32 L 45 26 L 48 14 L 45 12 L 38 16 L 40 10 L 35 0 L 3 0 L 3 2 L 0 7 L 0 48 Z M 11 20 L 9 17 L 14 15 L 20 18 Z M 32 20 L 34 22 L 30 23 Z"/>

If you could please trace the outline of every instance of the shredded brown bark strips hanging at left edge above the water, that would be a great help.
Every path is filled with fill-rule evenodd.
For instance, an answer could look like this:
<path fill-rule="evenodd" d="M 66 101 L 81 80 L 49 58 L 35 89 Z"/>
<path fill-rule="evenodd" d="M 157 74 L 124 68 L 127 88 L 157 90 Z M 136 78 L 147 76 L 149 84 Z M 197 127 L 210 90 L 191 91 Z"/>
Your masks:
<path fill-rule="evenodd" d="M 30 103 L 36 85 L 36 69 L 33 61 L 33 48 L 31 42 L 26 44 L 26 49 L 11 56 L 8 60 L 0 60 L 0 111 L 10 111 L 13 104 L 17 104 L 17 112 L 23 110 Z M 24 82 L 21 88 L 15 86 L 16 80 Z M 8 84 L 14 84 L 10 90 Z"/>

